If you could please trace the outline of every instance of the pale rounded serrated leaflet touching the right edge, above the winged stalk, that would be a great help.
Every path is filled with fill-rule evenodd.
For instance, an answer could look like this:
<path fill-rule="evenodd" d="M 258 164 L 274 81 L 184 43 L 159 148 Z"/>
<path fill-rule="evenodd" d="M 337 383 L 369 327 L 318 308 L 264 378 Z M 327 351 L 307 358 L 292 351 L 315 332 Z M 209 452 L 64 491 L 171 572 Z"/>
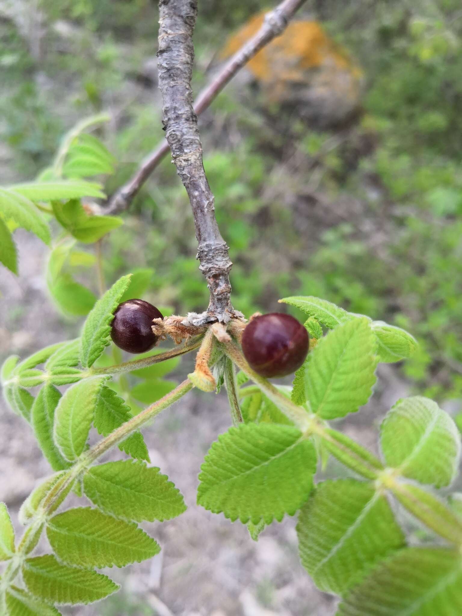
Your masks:
<path fill-rule="evenodd" d="M 421 484 L 449 485 L 460 462 L 460 435 L 453 419 L 422 396 L 399 400 L 380 428 L 387 466 Z"/>

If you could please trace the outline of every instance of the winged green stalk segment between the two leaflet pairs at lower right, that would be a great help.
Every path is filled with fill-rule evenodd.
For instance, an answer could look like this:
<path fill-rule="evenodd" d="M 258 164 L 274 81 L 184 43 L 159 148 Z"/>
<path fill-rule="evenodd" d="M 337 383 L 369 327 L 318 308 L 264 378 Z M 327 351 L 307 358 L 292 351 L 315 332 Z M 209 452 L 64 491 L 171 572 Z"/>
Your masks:
<path fill-rule="evenodd" d="M 346 434 L 331 428 L 324 428 L 324 434 L 323 447 L 347 468 L 368 479 L 377 479 L 383 471 L 380 460 Z"/>

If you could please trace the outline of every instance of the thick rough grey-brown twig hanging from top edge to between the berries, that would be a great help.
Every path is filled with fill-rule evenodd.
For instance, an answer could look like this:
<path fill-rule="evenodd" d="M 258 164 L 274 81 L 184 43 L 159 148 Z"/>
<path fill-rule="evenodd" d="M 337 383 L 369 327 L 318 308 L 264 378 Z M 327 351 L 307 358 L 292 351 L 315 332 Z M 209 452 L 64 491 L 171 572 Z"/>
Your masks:
<path fill-rule="evenodd" d="M 199 244 L 199 269 L 210 291 L 209 307 L 201 324 L 227 323 L 237 316 L 230 302 L 232 262 L 215 218 L 214 197 L 204 171 L 197 115 L 193 110 L 192 34 L 196 17 L 197 0 L 160 0 L 159 88 L 166 138 L 188 193 Z"/>

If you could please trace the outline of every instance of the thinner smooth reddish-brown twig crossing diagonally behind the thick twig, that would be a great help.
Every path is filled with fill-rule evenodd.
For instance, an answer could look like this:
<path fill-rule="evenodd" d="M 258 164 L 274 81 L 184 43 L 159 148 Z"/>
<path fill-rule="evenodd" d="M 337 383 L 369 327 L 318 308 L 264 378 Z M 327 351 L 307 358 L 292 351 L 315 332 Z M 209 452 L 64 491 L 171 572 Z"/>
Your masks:
<path fill-rule="evenodd" d="M 282 34 L 288 22 L 306 0 L 283 0 L 273 11 L 269 12 L 259 31 L 241 47 L 225 64 L 218 75 L 206 86 L 194 103 L 194 111 L 200 115 L 228 84 L 233 76 L 256 55 L 262 47 Z M 169 151 L 168 142 L 161 142 L 142 162 L 136 174 L 108 202 L 105 213 L 116 214 L 128 209 L 142 185 Z"/>

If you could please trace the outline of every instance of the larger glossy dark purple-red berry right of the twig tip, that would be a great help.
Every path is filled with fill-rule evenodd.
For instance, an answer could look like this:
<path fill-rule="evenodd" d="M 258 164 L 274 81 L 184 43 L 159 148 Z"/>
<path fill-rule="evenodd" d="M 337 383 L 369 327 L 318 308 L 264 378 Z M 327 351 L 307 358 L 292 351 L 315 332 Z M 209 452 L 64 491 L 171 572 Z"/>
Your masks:
<path fill-rule="evenodd" d="M 271 378 L 296 371 L 308 353 L 308 332 L 296 318 L 280 312 L 255 317 L 242 334 L 245 359 L 259 375 Z"/>

